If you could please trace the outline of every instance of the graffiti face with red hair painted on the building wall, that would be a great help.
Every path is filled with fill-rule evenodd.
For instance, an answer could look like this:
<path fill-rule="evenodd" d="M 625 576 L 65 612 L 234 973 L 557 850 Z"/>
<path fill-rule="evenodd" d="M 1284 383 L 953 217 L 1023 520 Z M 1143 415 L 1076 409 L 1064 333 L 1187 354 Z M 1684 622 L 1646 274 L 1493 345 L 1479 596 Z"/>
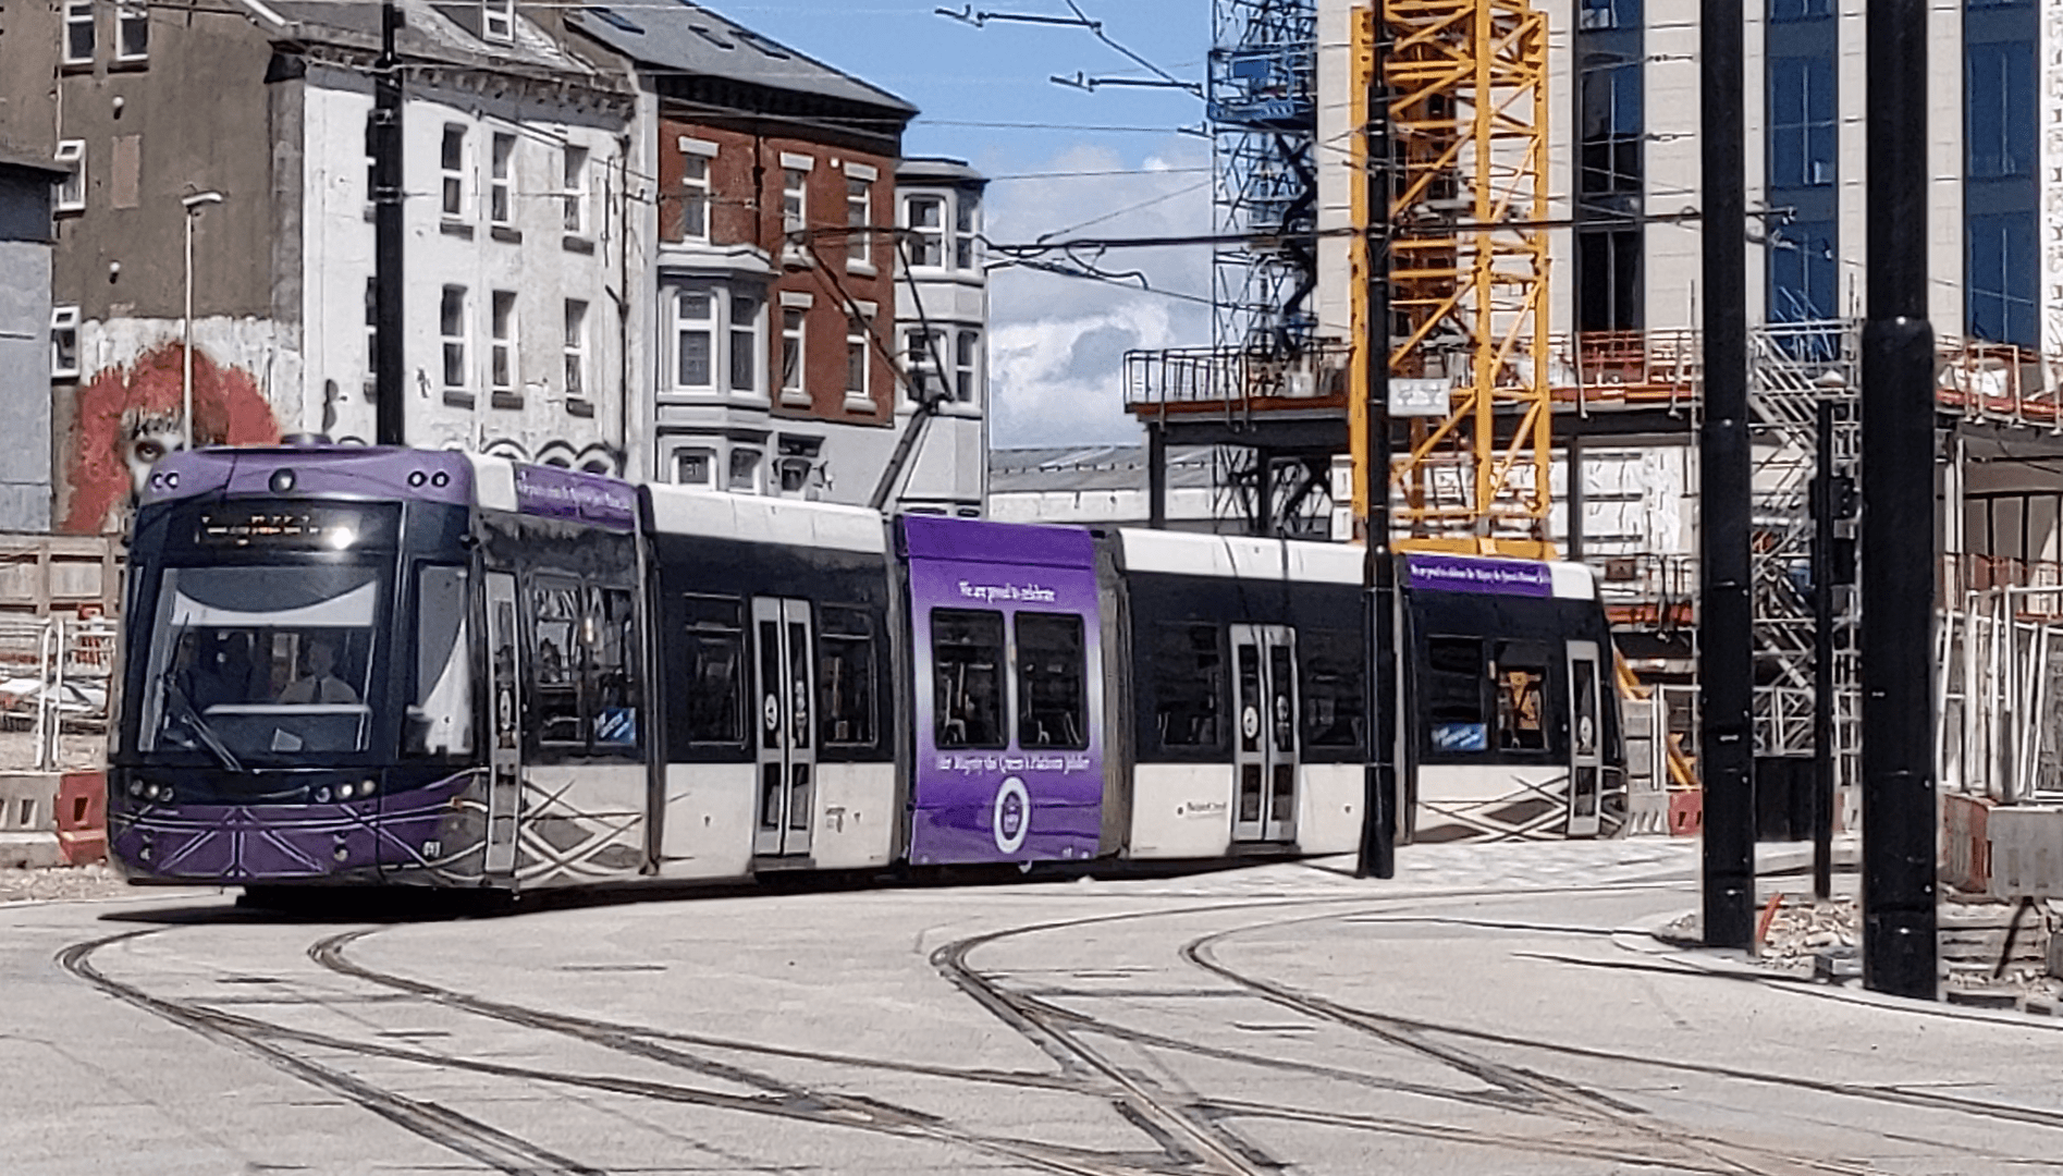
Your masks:
<path fill-rule="evenodd" d="M 120 530 L 142 493 L 151 466 L 186 446 L 177 342 L 159 345 L 128 367 L 105 367 L 78 388 L 66 456 L 62 528 L 74 534 Z M 221 367 L 194 349 L 194 444 L 268 446 L 281 427 L 258 382 Z"/>

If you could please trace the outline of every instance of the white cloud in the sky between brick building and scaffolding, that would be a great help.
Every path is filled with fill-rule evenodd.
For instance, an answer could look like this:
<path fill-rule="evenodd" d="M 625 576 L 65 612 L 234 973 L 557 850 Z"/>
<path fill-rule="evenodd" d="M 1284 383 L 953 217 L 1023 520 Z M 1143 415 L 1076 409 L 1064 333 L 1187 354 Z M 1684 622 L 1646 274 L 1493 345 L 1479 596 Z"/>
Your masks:
<path fill-rule="evenodd" d="M 1027 171 L 1118 173 L 996 184 L 988 198 L 988 237 L 1029 243 L 1207 233 L 1209 163 L 1205 144 L 1184 140 L 1139 161 L 1104 146 L 1073 146 Z M 1139 289 L 1139 276 L 1120 285 L 1029 268 L 994 270 L 988 345 L 994 442 L 1137 439 L 1139 427 L 1124 413 L 1124 351 L 1211 342 L 1211 307 L 1190 301 L 1211 295 L 1209 246 L 1048 254 L 1046 260 L 1139 274 L 1151 291 Z"/>

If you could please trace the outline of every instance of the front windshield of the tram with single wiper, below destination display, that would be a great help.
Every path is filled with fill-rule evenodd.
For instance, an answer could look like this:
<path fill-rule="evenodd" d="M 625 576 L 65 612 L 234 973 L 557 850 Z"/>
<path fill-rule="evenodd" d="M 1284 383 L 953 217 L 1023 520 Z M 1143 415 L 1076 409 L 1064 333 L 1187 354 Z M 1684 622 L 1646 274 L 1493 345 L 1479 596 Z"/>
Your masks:
<path fill-rule="evenodd" d="M 167 567 L 140 749 L 245 759 L 365 751 L 380 567 Z"/>

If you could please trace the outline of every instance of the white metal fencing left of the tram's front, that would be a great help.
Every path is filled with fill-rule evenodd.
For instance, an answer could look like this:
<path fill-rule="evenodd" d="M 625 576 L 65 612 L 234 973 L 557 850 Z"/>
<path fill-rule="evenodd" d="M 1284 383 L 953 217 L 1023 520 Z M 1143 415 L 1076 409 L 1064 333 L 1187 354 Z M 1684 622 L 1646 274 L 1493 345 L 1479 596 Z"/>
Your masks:
<path fill-rule="evenodd" d="M 107 730 L 118 625 L 105 617 L 0 617 L 0 728 L 33 732 L 29 763 L 60 767 L 64 732 Z"/>

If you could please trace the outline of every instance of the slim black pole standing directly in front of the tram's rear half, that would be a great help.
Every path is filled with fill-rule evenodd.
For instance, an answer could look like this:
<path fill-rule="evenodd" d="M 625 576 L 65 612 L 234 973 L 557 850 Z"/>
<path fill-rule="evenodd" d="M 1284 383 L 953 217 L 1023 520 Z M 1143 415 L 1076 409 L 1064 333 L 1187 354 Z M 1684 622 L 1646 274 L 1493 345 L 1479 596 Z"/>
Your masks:
<path fill-rule="evenodd" d="M 1390 103 L 1382 87 L 1384 33 L 1376 33 L 1376 72 L 1368 95 L 1368 534 L 1362 584 L 1368 586 L 1368 765 L 1362 780 L 1362 856 L 1357 877 L 1397 877 L 1397 557 L 1390 553 Z"/>

